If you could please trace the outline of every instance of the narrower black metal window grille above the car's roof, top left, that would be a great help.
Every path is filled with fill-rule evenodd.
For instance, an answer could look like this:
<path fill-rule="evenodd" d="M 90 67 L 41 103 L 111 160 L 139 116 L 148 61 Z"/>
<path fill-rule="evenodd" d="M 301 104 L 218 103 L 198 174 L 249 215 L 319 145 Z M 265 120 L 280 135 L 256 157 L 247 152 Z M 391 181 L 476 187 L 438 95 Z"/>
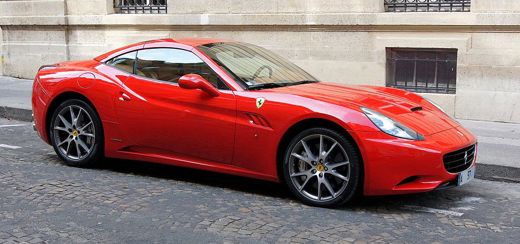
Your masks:
<path fill-rule="evenodd" d="M 167 0 L 114 0 L 120 13 L 166 13 Z"/>

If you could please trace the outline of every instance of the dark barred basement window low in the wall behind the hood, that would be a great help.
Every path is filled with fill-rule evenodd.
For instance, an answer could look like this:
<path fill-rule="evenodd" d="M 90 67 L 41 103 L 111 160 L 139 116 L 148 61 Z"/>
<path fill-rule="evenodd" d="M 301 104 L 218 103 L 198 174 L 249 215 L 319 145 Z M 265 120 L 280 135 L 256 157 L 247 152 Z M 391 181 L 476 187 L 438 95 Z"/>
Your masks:
<path fill-rule="evenodd" d="M 454 94 L 456 85 L 457 49 L 386 49 L 386 86 Z"/>

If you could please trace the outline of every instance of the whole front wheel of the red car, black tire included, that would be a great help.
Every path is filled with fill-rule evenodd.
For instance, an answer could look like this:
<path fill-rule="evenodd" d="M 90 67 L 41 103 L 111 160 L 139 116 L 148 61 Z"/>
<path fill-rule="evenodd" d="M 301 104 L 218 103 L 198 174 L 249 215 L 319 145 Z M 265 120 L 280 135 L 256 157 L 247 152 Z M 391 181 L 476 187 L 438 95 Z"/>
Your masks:
<path fill-rule="evenodd" d="M 360 188 L 361 165 L 350 140 L 333 129 L 302 131 L 289 143 L 283 174 L 290 191 L 309 205 L 332 207 Z"/>

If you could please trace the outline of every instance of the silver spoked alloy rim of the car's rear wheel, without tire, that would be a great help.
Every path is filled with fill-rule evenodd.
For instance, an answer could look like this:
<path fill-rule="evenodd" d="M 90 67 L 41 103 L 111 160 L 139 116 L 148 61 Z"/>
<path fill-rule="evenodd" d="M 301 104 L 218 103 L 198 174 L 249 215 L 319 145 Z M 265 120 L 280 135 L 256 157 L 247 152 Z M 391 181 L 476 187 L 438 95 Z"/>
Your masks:
<path fill-rule="evenodd" d="M 92 152 L 96 131 L 92 118 L 80 106 L 64 107 L 54 121 L 54 142 L 63 157 L 80 161 Z"/>

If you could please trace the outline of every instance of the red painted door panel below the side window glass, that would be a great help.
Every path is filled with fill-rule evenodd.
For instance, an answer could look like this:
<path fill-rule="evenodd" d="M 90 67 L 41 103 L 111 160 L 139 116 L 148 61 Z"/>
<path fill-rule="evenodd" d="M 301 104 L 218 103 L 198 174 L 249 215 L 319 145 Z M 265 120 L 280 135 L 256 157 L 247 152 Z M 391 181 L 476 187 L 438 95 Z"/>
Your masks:
<path fill-rule="evenodd" d="M 231 163 L 237 117 L 231 91 L 213 97 L 130 76 L 116 92 L 115 108 L 123 133 L 139 145 Z"/>

